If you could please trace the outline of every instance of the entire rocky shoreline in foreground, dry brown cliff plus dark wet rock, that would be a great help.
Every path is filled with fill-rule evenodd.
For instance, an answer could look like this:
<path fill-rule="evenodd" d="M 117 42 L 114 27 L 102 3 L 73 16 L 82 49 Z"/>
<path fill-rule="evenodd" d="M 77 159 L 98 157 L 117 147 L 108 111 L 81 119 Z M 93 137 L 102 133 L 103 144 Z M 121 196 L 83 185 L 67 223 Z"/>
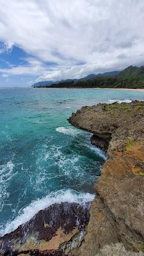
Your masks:
<path fill-rule="evenodd" d="M 51 205 L 0 237 L 0 254 L 143 255 L 144 103 L 83 107 L 68 122 L 91 132 L 92 144 L 108 154 L 91 207 Z"/>

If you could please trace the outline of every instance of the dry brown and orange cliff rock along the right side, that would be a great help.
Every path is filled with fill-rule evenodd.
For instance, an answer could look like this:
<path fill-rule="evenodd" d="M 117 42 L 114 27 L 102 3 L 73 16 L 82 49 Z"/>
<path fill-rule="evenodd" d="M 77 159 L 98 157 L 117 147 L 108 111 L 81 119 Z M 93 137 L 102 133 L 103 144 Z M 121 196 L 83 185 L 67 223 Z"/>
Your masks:
<path fill-rule="evenodd" d="M 144 244 L 144 102 L 83 107 L 68 121 L 92 132 L 95 145 L 104 143 L 109 156 L 95 184 L 84 242 L 74 255 L 94 256 L 111 243 L 139 252 Z"/>

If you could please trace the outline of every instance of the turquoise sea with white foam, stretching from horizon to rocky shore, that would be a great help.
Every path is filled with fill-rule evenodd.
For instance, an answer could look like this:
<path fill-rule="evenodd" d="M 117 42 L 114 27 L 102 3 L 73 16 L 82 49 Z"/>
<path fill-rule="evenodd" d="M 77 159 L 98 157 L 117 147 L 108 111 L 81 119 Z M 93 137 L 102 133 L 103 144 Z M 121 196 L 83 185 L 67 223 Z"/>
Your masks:
<path fill-rule="evenodd" d="M 67 118 L 84 105 L 144 92 L 91 89 L 0 89 L 0 235 L 54 202 L 86 202 L 106 156 Z"/>

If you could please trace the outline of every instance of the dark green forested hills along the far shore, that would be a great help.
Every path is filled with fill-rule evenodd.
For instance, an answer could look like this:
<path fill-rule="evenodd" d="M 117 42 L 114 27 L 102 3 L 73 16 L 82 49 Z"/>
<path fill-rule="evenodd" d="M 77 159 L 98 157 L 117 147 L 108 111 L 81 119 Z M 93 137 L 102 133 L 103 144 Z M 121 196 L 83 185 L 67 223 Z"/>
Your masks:
<path fill-rule="evenodd" d="M 61 81 L 49 88 L 144 88 L 144 66 L 127 67 L 125 70 L 111 76 L 95 76 L 91 79 Z"/>

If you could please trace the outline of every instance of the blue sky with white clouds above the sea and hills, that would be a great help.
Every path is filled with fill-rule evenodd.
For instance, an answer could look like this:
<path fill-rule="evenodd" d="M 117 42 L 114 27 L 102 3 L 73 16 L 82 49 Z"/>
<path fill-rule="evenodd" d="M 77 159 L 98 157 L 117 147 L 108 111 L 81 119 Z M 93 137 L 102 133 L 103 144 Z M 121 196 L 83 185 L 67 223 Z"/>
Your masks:
<path fill-rule="evenodd" d="M 0 0 L 0 87 L 144 65 L 143 0 Z"/>

